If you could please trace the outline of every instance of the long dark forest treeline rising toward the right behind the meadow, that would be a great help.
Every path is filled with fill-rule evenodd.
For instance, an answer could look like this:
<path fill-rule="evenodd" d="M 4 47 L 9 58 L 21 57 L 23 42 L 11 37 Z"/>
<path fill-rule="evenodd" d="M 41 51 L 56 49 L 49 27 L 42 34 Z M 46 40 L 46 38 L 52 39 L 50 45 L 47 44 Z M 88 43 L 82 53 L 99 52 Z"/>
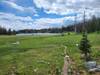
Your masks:
<path fill-rule="evenodd" d="M 24 29 L 17 31 L 17 33 L 62 33 L 74 31 L 76 31 L 77 33 L 81 33 L 84 29 L 88 33 L 100 32 L 100 18 L 96 18 L 95 16 L 93 16 L 92 19 L 88 21 L 80 22 L 69 26 L 63 26 L 61 28 L 48 28 L 40 30 Z"/>

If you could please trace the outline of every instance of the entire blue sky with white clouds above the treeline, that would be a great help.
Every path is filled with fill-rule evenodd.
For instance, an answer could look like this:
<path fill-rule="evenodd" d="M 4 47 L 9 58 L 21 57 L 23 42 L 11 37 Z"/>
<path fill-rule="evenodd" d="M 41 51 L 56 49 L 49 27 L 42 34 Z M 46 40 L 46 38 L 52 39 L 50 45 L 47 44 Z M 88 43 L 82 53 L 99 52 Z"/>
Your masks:
<path fill-rule="evenodd" d="M 100 0 L 0 0 L 0 26 L 43 29 L 67 26 L 93 15 L 100 17 Z"/>

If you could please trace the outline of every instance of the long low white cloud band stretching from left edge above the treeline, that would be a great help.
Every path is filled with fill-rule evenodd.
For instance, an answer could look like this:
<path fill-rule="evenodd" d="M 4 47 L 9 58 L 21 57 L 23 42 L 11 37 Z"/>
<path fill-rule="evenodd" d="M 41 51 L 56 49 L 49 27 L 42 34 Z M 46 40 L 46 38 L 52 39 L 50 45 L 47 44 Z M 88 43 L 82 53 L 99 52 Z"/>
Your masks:
<path fill-rule="evenodd" d="M 0 12 L 0 26 L 11 28 L 11 29 L 42 29 L 56 27 L 55 25 L 64 25 L 64 21 L 71 19 L 73 17 L 64 17 L 64 18 L 40 18 L 33 20 L 31 17 L 20 17 L 14 14 L 1 13 Z M 59 27 L 58 26 L 58 27 Z"/>

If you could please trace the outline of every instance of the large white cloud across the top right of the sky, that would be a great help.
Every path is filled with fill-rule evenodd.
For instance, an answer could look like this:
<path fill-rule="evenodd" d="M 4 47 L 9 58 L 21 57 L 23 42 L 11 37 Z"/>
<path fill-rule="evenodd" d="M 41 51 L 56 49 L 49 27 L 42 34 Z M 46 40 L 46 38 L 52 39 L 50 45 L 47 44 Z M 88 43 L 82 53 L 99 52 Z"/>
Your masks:
<path fill-rule="evenodd" d="M 100 8 L 99 0 L 33 0 L 38 8 L 43 8 L 48 14 L 54 13 L 58 15 L 66 15 L 74 13 L 75 11 L 84 11 L 83 8 L 91 8 L 96 11 L 96 8 Z M 81 10 L 81 11 L 80 11 Z M 91 10 L 87 9 L 89 12 Z M 91 12 L 92 13 L 92 12 Z M 96 14 L 96 13 L 95 13 Z"/>

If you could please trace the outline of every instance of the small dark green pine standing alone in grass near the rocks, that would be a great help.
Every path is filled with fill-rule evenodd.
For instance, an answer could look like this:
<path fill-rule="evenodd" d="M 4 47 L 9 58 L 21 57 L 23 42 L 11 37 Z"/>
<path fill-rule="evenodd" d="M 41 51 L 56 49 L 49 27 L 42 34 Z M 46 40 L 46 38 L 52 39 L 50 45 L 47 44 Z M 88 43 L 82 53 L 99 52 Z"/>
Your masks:
<path fill-rule="evenodd" d="M 90 60 L 90 53 L 91 53 L 91 45 L 89 40 L 87 39 L 87 33 L 83 32 L 83 38 L 81 39 L 79 49 L 81 53 L 84 54 L 84 58 L 86 61 Z"/>

